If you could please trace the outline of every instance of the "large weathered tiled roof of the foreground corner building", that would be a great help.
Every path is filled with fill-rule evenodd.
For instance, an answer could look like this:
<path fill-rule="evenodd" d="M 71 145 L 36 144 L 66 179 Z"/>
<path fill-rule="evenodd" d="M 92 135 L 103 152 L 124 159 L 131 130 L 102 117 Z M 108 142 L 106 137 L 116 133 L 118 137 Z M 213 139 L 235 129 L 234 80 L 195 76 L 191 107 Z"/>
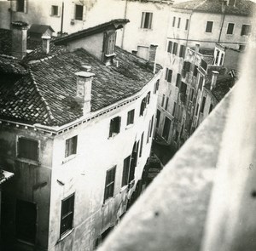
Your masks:
<path fill-rule="evenodd" d="M 62 125 L 82 117 L 82 110 L 74 99 L 75 73 L 81 71 L 82 65 L 90 65 L 91 71 L 96 73 L 91 111 L 136 94 L 154 77 L 153 64 L 121 48 L 116 48 L 115 52 L 119 67 L 105 66 L 82 48 L 33 61 L 26 76 L 1 83 L 0 117 L 46 125 Z"/>

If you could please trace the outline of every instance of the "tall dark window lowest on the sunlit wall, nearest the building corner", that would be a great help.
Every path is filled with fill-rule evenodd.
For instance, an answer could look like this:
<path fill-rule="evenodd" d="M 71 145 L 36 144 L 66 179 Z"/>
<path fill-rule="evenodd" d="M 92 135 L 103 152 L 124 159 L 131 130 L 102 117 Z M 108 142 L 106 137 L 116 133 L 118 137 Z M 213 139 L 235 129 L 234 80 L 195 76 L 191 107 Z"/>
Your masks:
<path fill-rule="evenodd" d="M 61 201 L 61 236 L 73 229 L 73 209 L 74 193 Z"/>

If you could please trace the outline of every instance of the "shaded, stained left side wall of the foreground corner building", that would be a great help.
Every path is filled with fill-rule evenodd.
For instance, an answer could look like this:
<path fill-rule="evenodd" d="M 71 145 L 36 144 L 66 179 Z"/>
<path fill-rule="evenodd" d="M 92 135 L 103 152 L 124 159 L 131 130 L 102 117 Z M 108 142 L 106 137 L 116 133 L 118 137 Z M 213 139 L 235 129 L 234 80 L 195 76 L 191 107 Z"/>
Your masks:
<path fill-rule="evenodd" d="M 20 136 L 38 140 L 38 162 L 17 157 L 17 140 Z M 6 224 L 3 225 L 3 234 L 7 233 L 12 245 L 20 245 L 20 242 L 15 239 L 16 200 L 20 199 L 36 203 L 38 208 L 36 245 L 38 250 L 43 250 L 48 245 L 53 140 L 32 129 L 2 126 L 0 130 L 0 145 L 0 165 L 15 174 L 13 179 L 3 185 L 3 195 L 7 199 L 4 203 L 9 206 L 8 215 L 3 216 Z"/>

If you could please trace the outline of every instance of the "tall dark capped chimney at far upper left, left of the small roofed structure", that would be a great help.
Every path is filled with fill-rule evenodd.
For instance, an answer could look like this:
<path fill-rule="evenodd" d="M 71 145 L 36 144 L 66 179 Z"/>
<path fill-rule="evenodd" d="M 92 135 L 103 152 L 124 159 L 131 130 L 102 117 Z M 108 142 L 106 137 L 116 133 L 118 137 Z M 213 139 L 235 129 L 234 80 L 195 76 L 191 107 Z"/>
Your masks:
<path fill-rule="evenodd" d="M 12 55 L 19 60 L 26 56 L 27 26 L 23 21 L 12 22 Z"/>

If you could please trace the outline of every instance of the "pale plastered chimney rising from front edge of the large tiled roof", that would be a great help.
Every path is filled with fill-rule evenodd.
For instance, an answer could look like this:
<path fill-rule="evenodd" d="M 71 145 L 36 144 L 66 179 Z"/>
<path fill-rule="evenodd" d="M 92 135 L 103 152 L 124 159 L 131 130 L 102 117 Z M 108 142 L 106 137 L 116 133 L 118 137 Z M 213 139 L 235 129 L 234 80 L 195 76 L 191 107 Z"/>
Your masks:
<path fill-rule="evenodd" d="M 75 75 L 77 76 L 77 95 L 75 99 L 86 114 L 90 112 L 91 84 L 95 74 L 90 71 L 79 71 Z"/>

